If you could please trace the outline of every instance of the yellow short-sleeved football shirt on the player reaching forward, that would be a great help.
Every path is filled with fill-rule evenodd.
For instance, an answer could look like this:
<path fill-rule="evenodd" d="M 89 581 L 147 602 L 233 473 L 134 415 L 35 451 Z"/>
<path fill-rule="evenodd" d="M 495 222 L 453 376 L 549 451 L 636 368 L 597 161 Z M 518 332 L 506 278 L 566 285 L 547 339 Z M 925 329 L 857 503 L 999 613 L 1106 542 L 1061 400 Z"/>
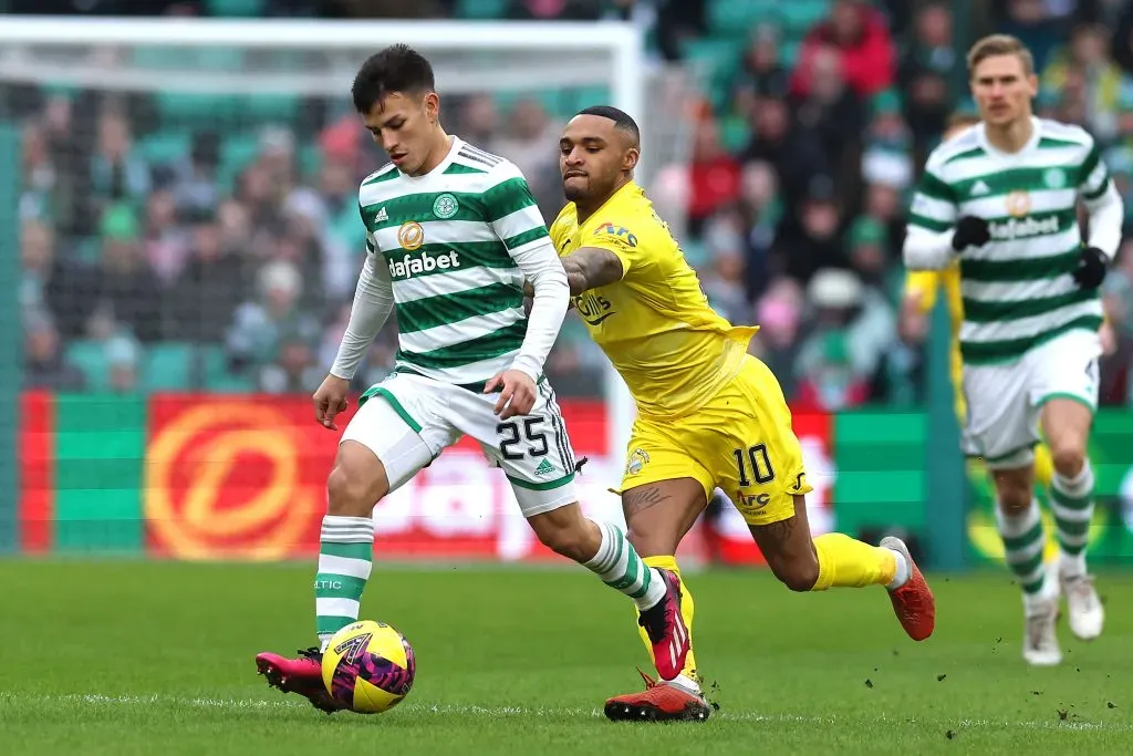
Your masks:
<path fill-rule="evenodd" d="M 582 247 L 608 249 L 622 279 L 574 297 L 595 342 L 649 417 L 695 411 L 731 380 L 758 328 L 733 326 L 709 305 L 696 272 L 632 181 L 579 224 L 568 203 L 551 224 L 562 256 Z"/>

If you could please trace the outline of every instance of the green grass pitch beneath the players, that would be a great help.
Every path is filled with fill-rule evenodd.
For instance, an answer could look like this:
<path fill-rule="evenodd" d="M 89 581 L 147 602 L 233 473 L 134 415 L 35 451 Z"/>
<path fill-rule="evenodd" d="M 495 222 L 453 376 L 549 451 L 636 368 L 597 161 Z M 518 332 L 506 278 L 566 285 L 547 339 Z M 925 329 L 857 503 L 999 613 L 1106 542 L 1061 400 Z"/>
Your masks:
<path fill-rule="evenodd" d="M 414 644 L 393 711 L 326 716 L 269 689 L 262 649 L 313 643 L 309 564 L 0 562 L 0 753 L 1075 754 L 1133 751 L 1133 577 L 1101 576 L 1093 644 L 1020 655 L 1006 574 L 932 578 L 936 635 L 901 631 L 881 588 L 795 595 L 765 572 L 688 576 L 704 724 L 600 713 L 648 657 L 627 600 L 581 569 L 375 564 L 363 617 Z"/>

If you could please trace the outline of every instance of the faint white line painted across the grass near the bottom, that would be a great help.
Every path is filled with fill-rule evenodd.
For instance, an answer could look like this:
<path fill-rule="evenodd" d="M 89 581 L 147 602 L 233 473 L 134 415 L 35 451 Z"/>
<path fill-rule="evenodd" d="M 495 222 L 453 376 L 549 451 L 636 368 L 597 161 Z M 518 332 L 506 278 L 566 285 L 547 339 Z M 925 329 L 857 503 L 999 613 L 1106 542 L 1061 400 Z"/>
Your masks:
<path fill-rule="evenodd" d="M 18 695 L 0 691 L 0 704 L 8 702 L 33 702 L 40 704 L 92 704 L 99 706 L 136 706 L 145 705 L 172 705 L 193 708 L 230 708 L 230 710 L 306 710 L 307 704 L 298 698 L 265 700 L 263 698 L 188 698 L 179 696 L 168 696 L 161 694 L 140 696 L 107 696 L 102 694 L 70 694 L 62 696 L 37 696 Z M 2 707 L 0 707 L 2 711 Z M 570 707 L 527 707 L 527 706 L 476 706 L 455 704 L 403 704 L 398 706 L 398 712 L 415 712 L 418 714 L 475 714 L 488 717 L 509 716 L 562 716 L 562 717 L 600 717 L 602 711 L 597 708 L 570 708 Z M 858 717 L 840 716 L 803 716 L 799 714 L 758 714 L 756 712 L 717 712 L 712 719 L 730 722 L 753 722 L 764 724 L 846 724 L 858 722 Z M 932 727 L 951 727 L 956 730 L 962 729 L 1017 729 L 1017 730 L 1098 730 L 1104 732 L 1133 732 L 1133 724 L 1121 722 L 1037 722 L 1037 721 L 995 721 L 995 720 L 960 720 L 948 723 L 942 720 L 893 719 L 887 716 L 877 717 L 878 722 L 891 725 L 917 725 L 931 724 Z"/>

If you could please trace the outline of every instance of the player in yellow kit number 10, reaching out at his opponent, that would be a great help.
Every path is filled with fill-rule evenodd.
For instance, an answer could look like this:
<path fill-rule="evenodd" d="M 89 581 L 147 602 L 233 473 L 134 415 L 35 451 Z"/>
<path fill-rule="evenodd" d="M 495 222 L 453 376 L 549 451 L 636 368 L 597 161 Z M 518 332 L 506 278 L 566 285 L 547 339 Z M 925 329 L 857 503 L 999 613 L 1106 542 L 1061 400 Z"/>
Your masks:
<path fill-rule="evenodd" d="M 569 202 L 551 237 L 573 306 L 637 404 L 621 496 L 629 541 L 644 561 L 680 577 L 676 546 L 719 486 L 789 588 L 885 586 L 905 632 L 928 638 L 936 605 L 904 543 L 891 537 L 872 546 L 838 533 L 811 538 L 811 486 L 791 413 L 775 376 L 747 351 L 757 329 L 733 326 L 709 307 L 668 227 L 633 182 L 633 119 L 616 108 L 587 108 L 559 146 Z M 691 638 L 692 596 L 683 580 L 680 588 Z M 690 648 L 681 674 L 646 677 L 644 693 L 608 699 L 606 716 L 707 719 L 698 679 Z"/>

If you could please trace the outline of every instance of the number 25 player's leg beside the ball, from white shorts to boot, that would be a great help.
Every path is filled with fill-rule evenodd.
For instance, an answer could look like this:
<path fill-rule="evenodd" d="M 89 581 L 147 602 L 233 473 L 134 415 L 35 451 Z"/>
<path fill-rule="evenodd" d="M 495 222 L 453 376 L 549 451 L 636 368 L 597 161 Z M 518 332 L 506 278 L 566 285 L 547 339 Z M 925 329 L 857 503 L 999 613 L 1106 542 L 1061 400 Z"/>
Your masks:
<path fill-rule="evenodd" d="M 322 652 L 331 636 L 358 619 L 374 552 L 374 507 L 454 440 L 435 422 L 427 393 L 407 379 L 391 379 L 367 398 L 343 431 L 326 483 L 314 581 L 320 645 L 293 659 L 270 652 L 256 656 L 269 685 L 298 693 L 327 713 L 338 706 L 323 686 Z"/>

